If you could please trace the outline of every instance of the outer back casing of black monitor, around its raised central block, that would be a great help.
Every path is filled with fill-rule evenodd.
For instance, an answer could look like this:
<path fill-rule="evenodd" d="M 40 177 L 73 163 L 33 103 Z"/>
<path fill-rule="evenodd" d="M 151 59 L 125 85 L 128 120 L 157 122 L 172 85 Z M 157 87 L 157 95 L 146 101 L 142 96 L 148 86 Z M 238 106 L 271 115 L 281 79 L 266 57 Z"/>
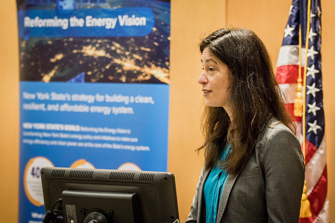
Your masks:
<path fill-rule="evenodd" d="M 61 193 L 69 189 L 136 193 L 140 200 L 139 212 L 143 212 L 140 222 L 179 222 L 175 177 L 169 172 L 46 167 L 41 170 L 41 180 L 46 212 L 62 198 Z M 149 215 L 154 215 L 150 221 L 146 219 Z"/>

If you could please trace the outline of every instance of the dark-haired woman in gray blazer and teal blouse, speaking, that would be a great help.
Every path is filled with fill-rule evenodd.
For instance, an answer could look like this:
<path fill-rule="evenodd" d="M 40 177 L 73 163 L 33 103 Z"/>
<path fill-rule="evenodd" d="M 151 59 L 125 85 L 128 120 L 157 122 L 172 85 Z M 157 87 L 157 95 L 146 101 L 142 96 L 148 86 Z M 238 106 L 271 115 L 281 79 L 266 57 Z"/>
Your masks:
<path fill-rule="evenodd" d="M 186 223 L 298 222 L 304 158 L 264 43 L 223 28 L 200 52 L 205 164 Z"/>

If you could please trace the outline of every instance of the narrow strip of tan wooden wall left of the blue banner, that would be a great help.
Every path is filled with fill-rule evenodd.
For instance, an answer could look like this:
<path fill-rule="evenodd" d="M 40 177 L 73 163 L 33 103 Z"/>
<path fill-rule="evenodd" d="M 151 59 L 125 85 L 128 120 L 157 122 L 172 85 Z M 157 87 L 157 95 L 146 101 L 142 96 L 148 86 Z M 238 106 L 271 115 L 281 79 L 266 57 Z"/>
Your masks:
<path fill-rule="evenodd" d="M 19 56 L 16 1 L 0 7 L 0 222 L 17 222 Z"/>

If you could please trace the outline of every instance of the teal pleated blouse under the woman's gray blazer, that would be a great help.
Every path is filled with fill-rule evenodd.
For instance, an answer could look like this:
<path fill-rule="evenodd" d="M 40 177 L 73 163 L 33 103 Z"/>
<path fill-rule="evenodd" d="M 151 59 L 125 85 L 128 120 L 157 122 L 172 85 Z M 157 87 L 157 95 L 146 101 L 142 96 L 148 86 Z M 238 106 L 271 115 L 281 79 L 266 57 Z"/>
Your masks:
<path fill-rule="evenodd" d="M 219 160 L 223 160 L 229 151 L 230 144 L 224 146 L 220 154 Z M 221 192 L 226 182 L 228 174 L 224 170 L 218 168 L 215 164 L 208 175 L 204 185 L 204 200 L 206 208 L 206 223 L 215 223 L 217 209 L 219 207 Z"/>

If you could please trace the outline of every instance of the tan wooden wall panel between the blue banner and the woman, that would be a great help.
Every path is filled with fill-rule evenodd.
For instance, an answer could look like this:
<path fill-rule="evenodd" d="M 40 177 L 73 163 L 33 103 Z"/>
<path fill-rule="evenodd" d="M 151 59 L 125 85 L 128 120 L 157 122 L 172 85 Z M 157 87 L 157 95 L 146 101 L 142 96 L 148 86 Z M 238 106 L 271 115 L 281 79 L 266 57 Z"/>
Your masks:
<path fill-rule="evenodd" d="M 172 0 L 171 85 L 168 171 L 177 184 L 179 215 L 190 212 L 203 157 L 195 152 L 203 141 L 200 37 L 225 26 L 224 0 Z"/>

